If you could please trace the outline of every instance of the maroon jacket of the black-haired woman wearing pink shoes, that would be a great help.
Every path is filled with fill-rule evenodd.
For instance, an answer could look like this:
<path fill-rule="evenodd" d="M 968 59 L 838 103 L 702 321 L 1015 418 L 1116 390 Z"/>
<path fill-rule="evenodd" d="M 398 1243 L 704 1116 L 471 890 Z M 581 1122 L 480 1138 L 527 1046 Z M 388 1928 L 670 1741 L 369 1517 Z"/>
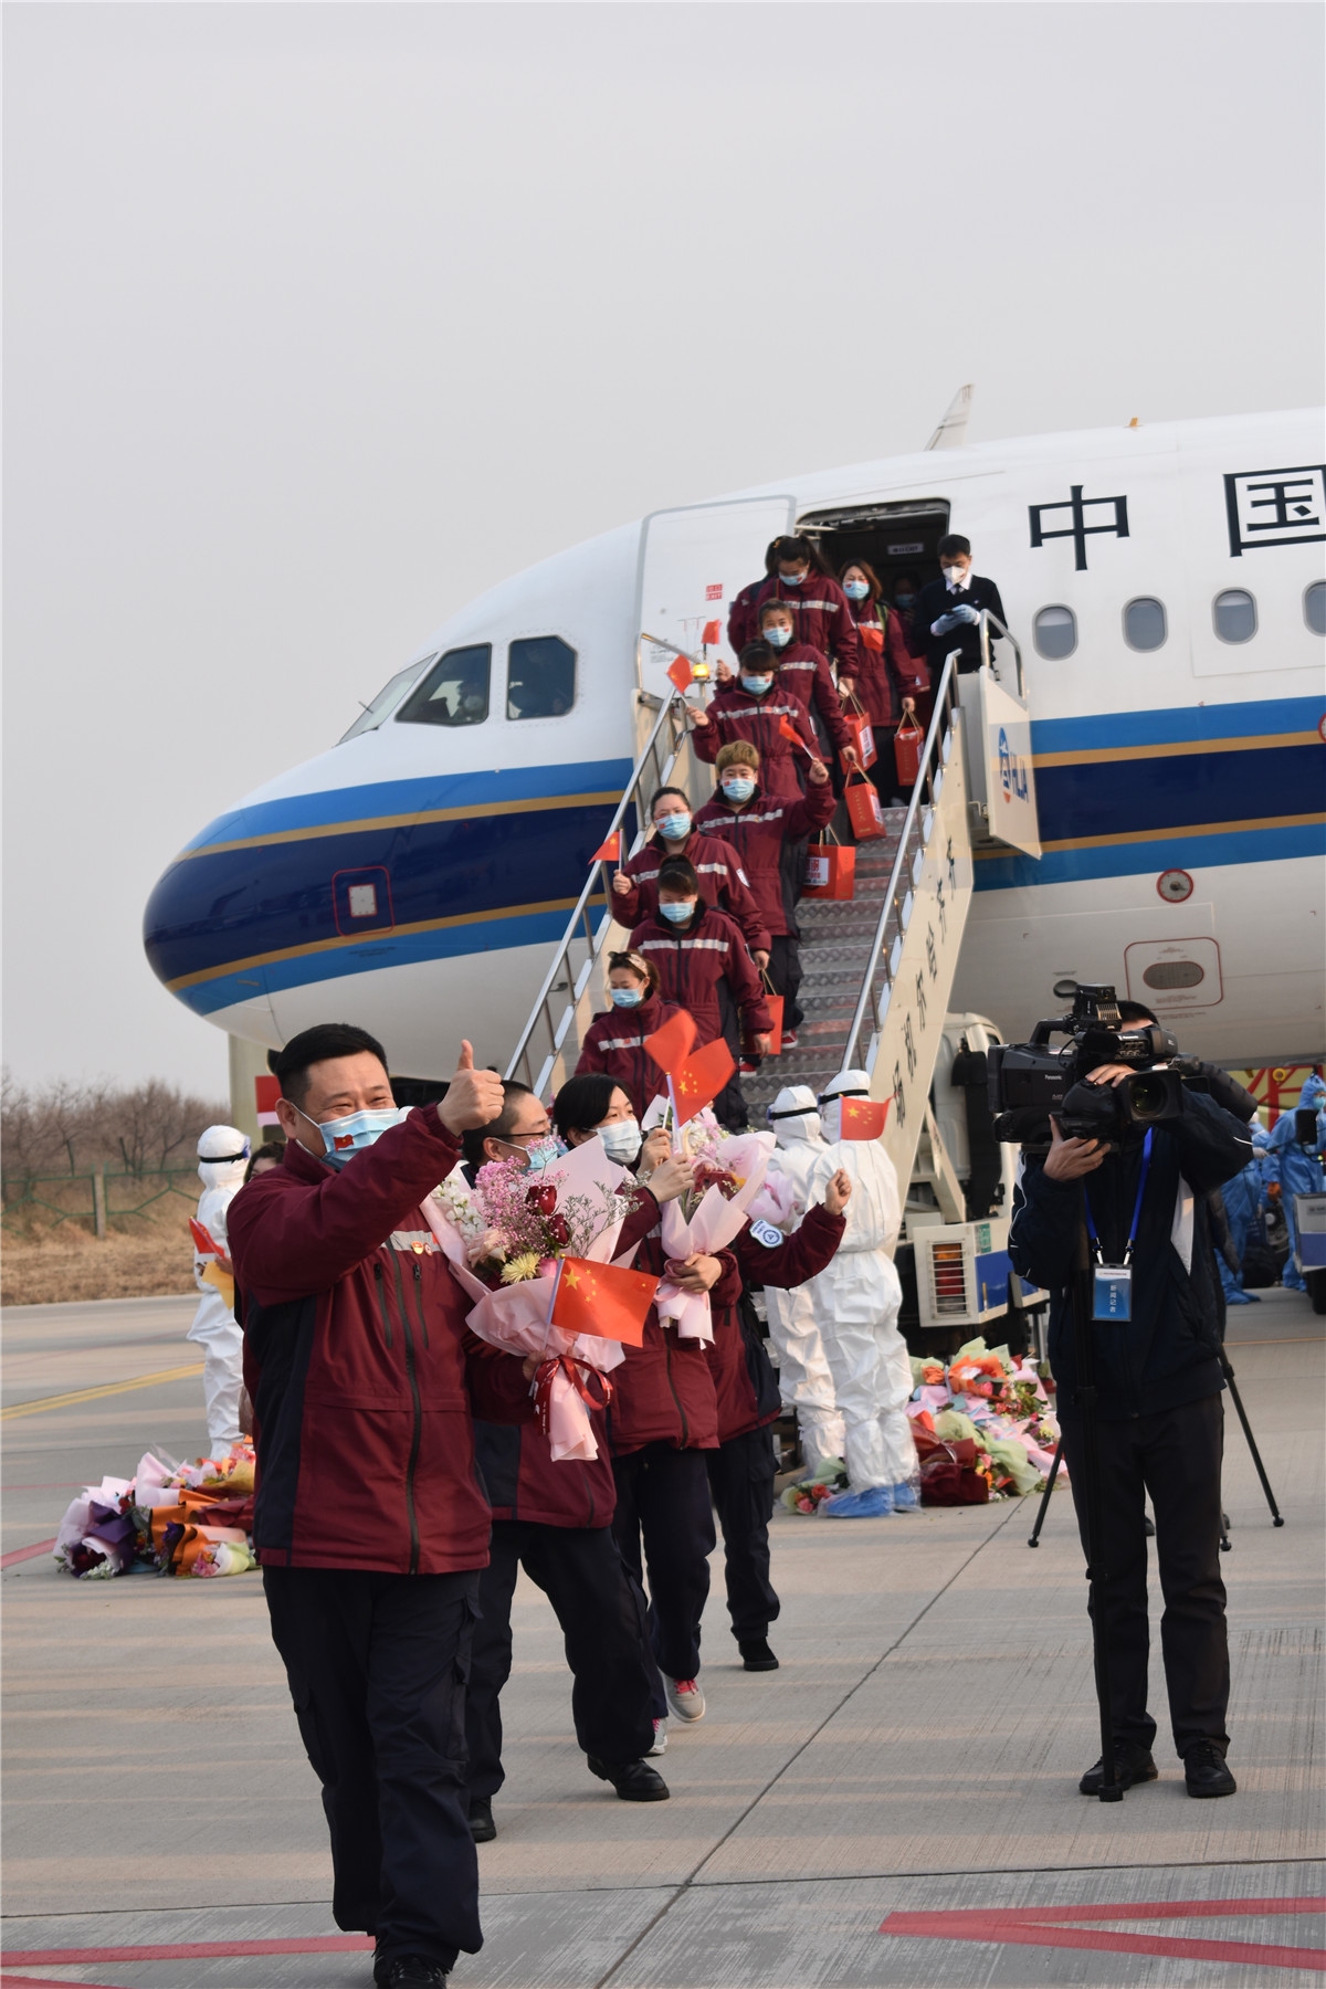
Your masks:
<path fill-rule="evenodd" d="M 652 1201 L 652 1195 L 650 1195 Z M 654 1217 L 658 1221 L 658 1217 Z M 732 1251 L 720 1251 L 722 1277 L 710 1291 L 716 1337 L 732 1337 L 732 1313 L 742 1297 L 742 1275 Z M 634 1269 L 662 1277 L 666 1255 L 658 1227 L 640 1243 Z M 704 1341 L 678 1339 L 676 1327 L 660 1327 L 650 1307 L 644 1347 L 628 1347 L 612 1372 L 608 1402 L 612 1456 L 622 1458 L 646 1444 L 674 1450 L 718 1450 L 718 1398 L 714 1394 L 714 1349 Z"/>

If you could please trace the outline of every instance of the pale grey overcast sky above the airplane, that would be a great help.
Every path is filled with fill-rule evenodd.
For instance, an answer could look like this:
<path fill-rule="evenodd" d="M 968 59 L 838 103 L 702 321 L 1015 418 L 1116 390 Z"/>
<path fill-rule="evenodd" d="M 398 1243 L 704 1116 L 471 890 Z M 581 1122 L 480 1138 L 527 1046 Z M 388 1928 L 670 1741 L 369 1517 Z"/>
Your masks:
<path fill-rule="evenodd" d="M 141 911 L 642 511 L 1320 398 L 1314 4 L 6 8 L 6 1058 L 225 1088 Z M 457 1024 L 463 1018 L 457 1018 Z"/>

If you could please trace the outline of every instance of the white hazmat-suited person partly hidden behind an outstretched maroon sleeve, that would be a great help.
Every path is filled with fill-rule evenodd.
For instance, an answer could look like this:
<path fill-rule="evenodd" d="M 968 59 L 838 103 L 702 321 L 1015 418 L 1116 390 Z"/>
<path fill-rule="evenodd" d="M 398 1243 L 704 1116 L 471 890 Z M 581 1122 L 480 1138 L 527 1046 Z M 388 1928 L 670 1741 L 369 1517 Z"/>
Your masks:
<path fill-rule="evenodd" d="M 769 1156 L 769 1174 L 781 1174 L 791 1189 L 785 1235 L 801 1223 L 811 1205 L 809 1179 L 815 1162 L 827 1154 L 819 1126 L 819 1106 L 809 1084 L 787 1084 L 769 1106 L 765 1118 L 773 1128 L 777 1150 Z M 777 1349 L 777 1386 L 783 1408 L 795 1412 L 801 1456 L 815 1470 L 825 1458 L 843 1456 L 843 1416 L 833 1396 L 833 1374 L 819 1337 L 809 1285 L 793 1291 L 765 1287 L 769 1339 Z"/>

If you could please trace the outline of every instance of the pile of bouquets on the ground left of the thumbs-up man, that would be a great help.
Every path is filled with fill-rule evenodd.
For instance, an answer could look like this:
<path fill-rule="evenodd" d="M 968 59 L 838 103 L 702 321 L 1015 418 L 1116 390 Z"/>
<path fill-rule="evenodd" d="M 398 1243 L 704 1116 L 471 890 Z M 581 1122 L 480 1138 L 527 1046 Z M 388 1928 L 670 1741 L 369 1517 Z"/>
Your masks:
<path fill-rule="evenodd" d="M 243 1575 L 252 1553 L 252 1444 L 177 1464 L 149 1450 L 133 1478 L 103 1478 L 74 1500 L 56 1537 L 56 1567 L 82 1579 Z"/>

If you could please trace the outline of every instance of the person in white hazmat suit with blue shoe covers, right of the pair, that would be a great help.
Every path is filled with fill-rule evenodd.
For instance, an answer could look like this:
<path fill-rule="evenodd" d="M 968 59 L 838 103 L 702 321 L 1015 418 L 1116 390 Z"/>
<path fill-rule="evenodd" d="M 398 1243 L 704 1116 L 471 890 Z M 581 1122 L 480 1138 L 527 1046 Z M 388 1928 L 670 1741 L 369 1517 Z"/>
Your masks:
<path fill-rule="evenodd" d="M 899 1175 L 879 1140 L 835 1140 L 839 1098 L 869 1098 L 865 1070 L 841 1070 L 819 1104 L 827 1142 L 817 1154 L 807 1199 L 823 1197 L 837 1168 L 851 1175 L 847 1231 L 833 1263 L 809 1283 L 837 1406 L 849 1490 L 823 1504 L 833 1520 L 875 1520 L 914 1512 L 916 1446 L 905 1402 L 912 1366 L 899 1333 L 903 1287 L 893 1251 L 903 1223 Z"/>

